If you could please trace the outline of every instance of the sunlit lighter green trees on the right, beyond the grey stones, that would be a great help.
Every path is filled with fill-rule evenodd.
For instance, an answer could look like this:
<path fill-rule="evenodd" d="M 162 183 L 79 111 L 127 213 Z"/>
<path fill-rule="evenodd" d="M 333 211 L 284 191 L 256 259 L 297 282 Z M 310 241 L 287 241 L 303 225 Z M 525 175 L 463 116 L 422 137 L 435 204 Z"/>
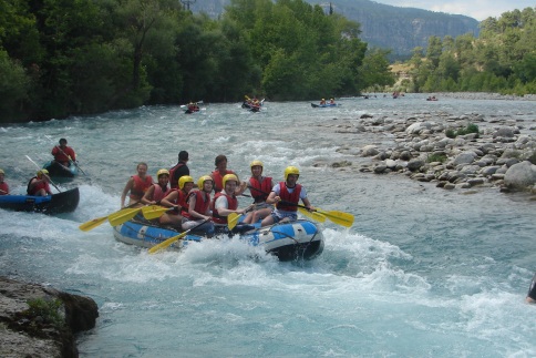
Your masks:
<path fill-rule="evenodd" d="M 478 38 L 432 37 L 409 62 L 410 92 L 536 93 L 536 11 L 505 12 L 481 23 Z"/>

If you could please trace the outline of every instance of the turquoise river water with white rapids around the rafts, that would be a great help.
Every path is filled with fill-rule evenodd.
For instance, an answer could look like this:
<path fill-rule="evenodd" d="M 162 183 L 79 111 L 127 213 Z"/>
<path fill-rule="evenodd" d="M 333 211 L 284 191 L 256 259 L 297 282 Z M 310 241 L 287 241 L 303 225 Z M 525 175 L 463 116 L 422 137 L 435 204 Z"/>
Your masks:
<path fill-rule="evenodd" d="M 364 113 L 534 121 L 534 102 L 425 98 L 267 102 L 257 114 L 239 103 L 194 115 L 153 106 L 3 126 L 0 166 L 16 192 L 35 171 L 24 155 L 50 160 L 48 136 L 66 137 L 89 175 L 60 184 L 80 187 L 72 214 L 0 211 L 0 275 L 99 304 L 97 326 L 79 336 L 81 357 L 534 357 L 536 307 L 524 303 L 536 268 L 534 202 L 326 165 L 362 161 L 341 146 L 389 141 L 337 126 Z M 154 175 L 181 150 L 196 178 L 218 154 L 241 178 L 254 158 L 277 180 L 296 165 L 313 205 L 350 212 L 355 224 L 327 222 L 324 252 L 307 263 L 279 263 L 238 239 L 148 255 L 116 242 L 107 224 L 78 229 L 118 209 L 137 162 Z"/>

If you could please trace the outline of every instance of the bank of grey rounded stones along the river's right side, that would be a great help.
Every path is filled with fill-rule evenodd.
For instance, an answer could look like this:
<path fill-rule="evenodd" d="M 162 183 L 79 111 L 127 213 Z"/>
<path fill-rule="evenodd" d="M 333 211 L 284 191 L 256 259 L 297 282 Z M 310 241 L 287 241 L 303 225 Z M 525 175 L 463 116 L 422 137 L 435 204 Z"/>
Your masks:
<path fill-rule="evenodd" d="M 444 190 L 494 186 L 536 198 L 536 117 L 534 113 L 485 117 L 471 113 L 420 113 L 410 116 L 363 114 L 323 124 L 354 134 L 339 152 L 355 161 L 332 167 L 374 174 L 402 174 Z M 326 130 L 326 129 L 322 129 Z M 319 164 L 321 165 L 321 164 Z"/>

